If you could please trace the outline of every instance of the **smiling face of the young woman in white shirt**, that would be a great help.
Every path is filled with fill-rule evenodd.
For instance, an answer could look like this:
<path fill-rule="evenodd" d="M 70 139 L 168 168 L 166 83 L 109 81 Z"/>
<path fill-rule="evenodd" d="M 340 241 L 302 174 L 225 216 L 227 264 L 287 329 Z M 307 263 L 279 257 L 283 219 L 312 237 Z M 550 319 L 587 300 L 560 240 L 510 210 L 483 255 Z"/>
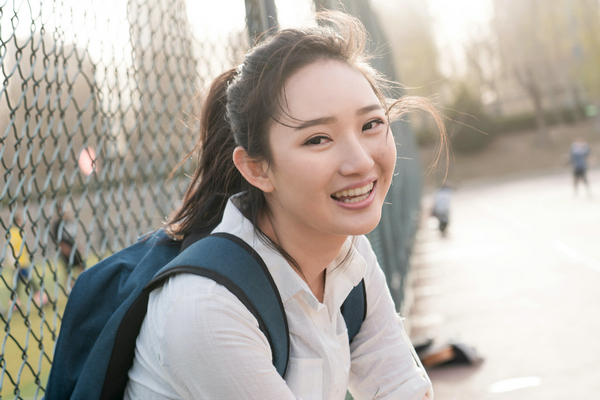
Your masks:
<path fill-rule="evenodd" d="M 370 232 L 381 217 L 396 146 L 369 82 L 346 63 L 318 61 L 292 75 L 284 93 L 292 118 L 283 115 L 289 126 L 270 129 L 273 190 L 265 193 L 278 235 Z"/>

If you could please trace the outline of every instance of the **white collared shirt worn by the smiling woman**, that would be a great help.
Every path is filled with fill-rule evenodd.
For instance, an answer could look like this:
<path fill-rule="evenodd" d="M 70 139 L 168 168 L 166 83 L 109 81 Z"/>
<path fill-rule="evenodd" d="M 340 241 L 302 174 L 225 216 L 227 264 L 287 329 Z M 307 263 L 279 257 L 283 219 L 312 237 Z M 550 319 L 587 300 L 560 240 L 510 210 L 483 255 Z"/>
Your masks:
<path fill-rule="evenodd" d="M 351 239 L 327 268 L 323 303 L 229 200 L 214 232 L 243 239 L 273 276 L 287 315 L 290 358 L 285 379 L 256 318 L 225 287 L 195 275 L 177 275 L 150 294 L 136 343 L 125 399 L 356 400 L 433 398 L 416 360 L 382 270 L 366 237 L 337 267 Z M 340 306 L 365 279 L 367 317 L 350 346 Z"/>

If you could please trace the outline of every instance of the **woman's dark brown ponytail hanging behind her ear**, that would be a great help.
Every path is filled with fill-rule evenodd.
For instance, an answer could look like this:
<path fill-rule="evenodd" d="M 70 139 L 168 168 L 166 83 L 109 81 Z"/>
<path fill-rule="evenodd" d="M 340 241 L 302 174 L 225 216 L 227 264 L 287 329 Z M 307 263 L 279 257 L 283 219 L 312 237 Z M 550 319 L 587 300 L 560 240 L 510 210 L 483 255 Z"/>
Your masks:
<path fill-rule="evenodd" d="M 233 163 L 237 144 L 226 118 L 227 85 L 235 73 L 230 69 L 215 78 L 204 100 L 200 138 L 185 158 L 195 154 L 198 168 L 181 205 L 165 225 L 174 239 L 182 240 L 191 233 L 210 234 L 223 219 L 229 197 L 247 190 L 249 185 Z"/>

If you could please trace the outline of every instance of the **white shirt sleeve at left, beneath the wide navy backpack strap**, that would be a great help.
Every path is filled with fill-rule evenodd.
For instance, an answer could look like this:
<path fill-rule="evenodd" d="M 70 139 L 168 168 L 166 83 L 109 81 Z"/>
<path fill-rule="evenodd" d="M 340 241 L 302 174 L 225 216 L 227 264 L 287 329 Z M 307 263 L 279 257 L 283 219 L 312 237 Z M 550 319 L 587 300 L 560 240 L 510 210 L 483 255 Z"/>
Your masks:
<path fill-rule="evenodd" d="M 160 338 L 160 363 L 177 393 L 190 400 L 295 399 L 256 318 L 223 286 L 191 279 L 201 287 L 173 295 Z"/>

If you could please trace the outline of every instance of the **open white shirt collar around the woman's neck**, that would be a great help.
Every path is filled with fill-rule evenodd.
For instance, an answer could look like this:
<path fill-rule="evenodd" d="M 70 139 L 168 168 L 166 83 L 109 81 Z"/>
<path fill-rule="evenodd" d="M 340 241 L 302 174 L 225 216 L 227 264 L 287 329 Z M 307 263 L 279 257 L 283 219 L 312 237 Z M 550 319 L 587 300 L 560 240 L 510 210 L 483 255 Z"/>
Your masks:
<path fill-rule="evenodd" d="M 298 294 L 311 308 L 315 310 L 322 308 L 324 305 L 319 303 L 306 282 L 287 260 L 277 250 L 260 240 L 252 223 L 235 206 L 232 201 L 234 198 L 235 196 L 228 200 L 223 219 L 213 233 L 230 233 L 244 240 L 256 250 L 269 269 L 284 303 Z M 344 260 L 349 251 L 351 251 L 350 258 Z M 365 271 L 364 258 L 354 248 L 352 239 L 348 238 L 340 254 L 327 267 L 324 304 L 328 306 L 331 317 L 333 317 L 333 312 L 341 307 L 352 288 L 358 285 L 364 277 Z"/>

